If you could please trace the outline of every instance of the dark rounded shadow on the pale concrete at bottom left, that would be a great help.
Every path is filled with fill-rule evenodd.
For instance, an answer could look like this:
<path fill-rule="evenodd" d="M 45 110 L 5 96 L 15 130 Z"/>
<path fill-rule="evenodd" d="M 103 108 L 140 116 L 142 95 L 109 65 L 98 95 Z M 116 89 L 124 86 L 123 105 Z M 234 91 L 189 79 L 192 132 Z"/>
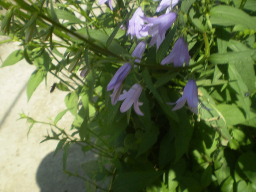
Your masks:
<path fill-rule="evenodd" d="M 87 192 L 86 181 L 77 177 L 68 177 L 63 172 L 63 149 L 61 149 L 54 157 L 54 152 L 49 153 L 40 163 L 36 180 L 41 192 Z M 75 166 L 80 176 L 85 177 L 81 170 L 81 163 L 90 161 L 94 158 L 94 154 L 86 153 L 84 155 L 79 146 L 73 145 L 69 147 L 66 169 L 75 173 Z"/>

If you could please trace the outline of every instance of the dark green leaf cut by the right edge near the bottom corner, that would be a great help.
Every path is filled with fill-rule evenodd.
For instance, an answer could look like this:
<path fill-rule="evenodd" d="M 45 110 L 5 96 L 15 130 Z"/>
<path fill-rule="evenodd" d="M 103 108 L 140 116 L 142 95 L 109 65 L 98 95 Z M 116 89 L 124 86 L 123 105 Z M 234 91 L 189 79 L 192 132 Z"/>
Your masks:
<path fill-rule="evenodd" d="M 248 151 L 238 158 L 238 166 L 251 181 L 252 187 L 256 190 L 256 154 Z"/>

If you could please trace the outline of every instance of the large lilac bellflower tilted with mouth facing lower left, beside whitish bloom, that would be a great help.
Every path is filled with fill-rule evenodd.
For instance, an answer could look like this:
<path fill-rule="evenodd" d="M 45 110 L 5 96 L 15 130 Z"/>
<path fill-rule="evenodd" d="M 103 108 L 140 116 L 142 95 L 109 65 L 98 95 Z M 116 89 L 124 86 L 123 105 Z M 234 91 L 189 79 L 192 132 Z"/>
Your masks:
<path fill-rule="evenodd" d="M 158 18 L 146 16 L 143 17 L 148 24 L 144 25 L 142 31 L 147 31 L 148 34 L 152 36 L 149 46 L 157 44 L 157 49 L 159 48 L 165 39 L 166 31 L 173 25 L 176 17 L 177 15 L 174 12 L 160 15 Z"/>

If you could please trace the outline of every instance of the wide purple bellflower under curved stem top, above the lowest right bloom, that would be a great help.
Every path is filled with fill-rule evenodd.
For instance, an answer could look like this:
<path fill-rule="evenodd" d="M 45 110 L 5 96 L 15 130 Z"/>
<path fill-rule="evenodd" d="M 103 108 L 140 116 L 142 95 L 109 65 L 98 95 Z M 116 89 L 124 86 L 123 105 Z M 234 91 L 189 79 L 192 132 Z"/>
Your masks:
<path fill-rule="evenodd" d="M 189 56 L 188 45 L 185 43 L 183 38 L 179 38 L 173 45 L 171 53 L 162 60 L 161 64 L 173 63 L 174 67 L 183 67 L 189 65 L 191 56 Z"/>

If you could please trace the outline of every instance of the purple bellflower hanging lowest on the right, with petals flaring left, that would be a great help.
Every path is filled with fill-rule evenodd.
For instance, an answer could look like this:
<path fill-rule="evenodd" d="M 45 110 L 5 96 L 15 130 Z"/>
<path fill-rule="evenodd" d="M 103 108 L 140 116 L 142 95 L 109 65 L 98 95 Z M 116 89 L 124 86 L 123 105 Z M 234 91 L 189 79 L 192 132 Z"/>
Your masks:
<path fill-rule="evenodd" d="M 193 79 L 190 79 L 186 86 L 184 87 L 183 95 L 175 103 L 167 103 L 169 105 L 174 105 L 173 111 L 182 108 L 185 105 L 185 102 L 188 101 L 188 107 L 193 112 L 198 112 L 197 110 L 197 101 L 198 101 L 198 91 L 196 82 Z"/>

